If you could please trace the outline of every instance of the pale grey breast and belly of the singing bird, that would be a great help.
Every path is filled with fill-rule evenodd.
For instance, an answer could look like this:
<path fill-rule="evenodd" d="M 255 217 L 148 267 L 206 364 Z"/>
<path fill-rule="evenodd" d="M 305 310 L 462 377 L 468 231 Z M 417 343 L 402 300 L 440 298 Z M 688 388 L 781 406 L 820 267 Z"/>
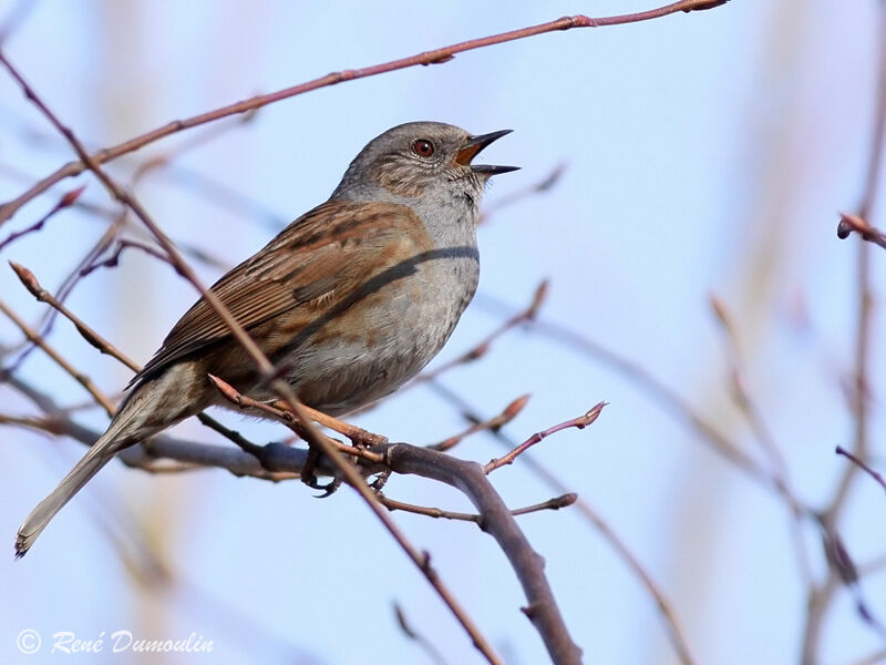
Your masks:
<path fill-rule="evenodd" d="M 289 357 L 289 380 L 308 405 L 338 415 L 380 399 L 421 371 L 452 335 L 480 278 L 476 216 L 422 222 L 430 246 L 377 276 L 379 284 L 351 305 L 361 311 L 361 329 L 318 330 Z"/>

